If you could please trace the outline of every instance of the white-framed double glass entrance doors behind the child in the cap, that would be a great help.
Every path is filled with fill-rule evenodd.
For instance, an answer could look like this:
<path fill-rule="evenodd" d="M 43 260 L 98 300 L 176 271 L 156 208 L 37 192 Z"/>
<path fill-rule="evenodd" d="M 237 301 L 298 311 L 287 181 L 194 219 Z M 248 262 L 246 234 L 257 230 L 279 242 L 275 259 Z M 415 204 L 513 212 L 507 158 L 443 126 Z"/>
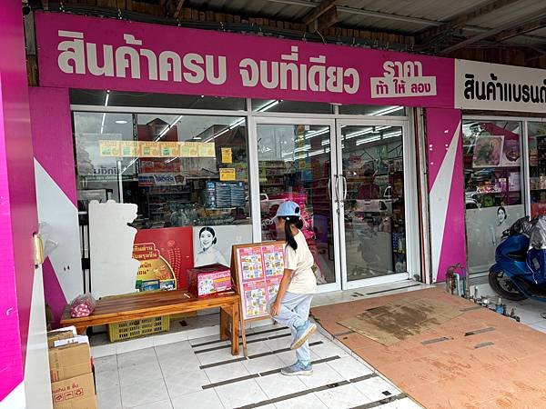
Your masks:
<path fill-rule="evenodd" d="M 416 195 L 407 189 L 405 124 L 257 120 L 261 239 L 279 238 L 271 219 L 280 202 L 298 203 L 319 291 L 404 280 L 413 271 L 409 253 L 418 240 L 407 244 L 415 232 L 408 220 L 417 217 L 408 214 Z"/>

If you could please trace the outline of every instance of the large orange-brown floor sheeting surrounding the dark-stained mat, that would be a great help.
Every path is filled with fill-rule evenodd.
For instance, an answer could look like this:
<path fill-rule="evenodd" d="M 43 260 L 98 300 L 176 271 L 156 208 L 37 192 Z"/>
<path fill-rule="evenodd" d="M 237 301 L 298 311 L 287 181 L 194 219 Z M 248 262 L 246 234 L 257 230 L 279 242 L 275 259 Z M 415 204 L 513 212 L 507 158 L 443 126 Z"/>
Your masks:
<path fill-rule="evenodd" d="M 382 345 L 340 321 L 400 300 L 437 300 L 459 316 Z M 546 334 L 440 288 L 313 308 L 340 342 L 426 408 L 546 407 Z"/>

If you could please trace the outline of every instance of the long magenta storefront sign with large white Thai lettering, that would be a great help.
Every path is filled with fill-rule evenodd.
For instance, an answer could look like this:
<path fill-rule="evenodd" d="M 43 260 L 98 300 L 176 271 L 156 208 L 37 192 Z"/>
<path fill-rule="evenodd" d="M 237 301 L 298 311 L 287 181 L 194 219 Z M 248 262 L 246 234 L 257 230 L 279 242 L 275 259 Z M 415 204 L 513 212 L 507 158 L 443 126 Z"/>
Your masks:
<path fill-rule="evenodd" d="M 40 85 L 453 107 L 454 61 L 342 45 L 36 13 Z"/>

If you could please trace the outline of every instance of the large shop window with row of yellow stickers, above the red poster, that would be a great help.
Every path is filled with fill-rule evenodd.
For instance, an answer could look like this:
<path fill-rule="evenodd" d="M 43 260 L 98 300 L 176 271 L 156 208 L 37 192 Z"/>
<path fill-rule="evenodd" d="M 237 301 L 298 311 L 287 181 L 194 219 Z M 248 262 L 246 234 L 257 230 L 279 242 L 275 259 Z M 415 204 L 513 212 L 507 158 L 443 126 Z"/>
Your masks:
<path fill-rule="evenodd" d="M 244 117 L 76 112 L 74 128 L 80 197 L 138 205 L 137 228 L 251 223 Z"/>

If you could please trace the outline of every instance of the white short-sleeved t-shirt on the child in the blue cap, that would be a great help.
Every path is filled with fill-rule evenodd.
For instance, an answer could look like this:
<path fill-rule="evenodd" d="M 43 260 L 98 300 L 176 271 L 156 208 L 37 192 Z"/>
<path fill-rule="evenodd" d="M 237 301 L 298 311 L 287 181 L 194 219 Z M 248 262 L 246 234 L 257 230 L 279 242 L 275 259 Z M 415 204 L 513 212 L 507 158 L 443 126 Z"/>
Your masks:
<path fill-rule="evenodd" d="M 285 248 L 285 268 L 292 270 L 292 279 L 288 284 L 288 293 L 314 294 L 317 291 L 317 278 L 311 267 L 315 263 L 305 236 L 299 232 L 294 236 L 298 250 L 289 245 Z"/>

